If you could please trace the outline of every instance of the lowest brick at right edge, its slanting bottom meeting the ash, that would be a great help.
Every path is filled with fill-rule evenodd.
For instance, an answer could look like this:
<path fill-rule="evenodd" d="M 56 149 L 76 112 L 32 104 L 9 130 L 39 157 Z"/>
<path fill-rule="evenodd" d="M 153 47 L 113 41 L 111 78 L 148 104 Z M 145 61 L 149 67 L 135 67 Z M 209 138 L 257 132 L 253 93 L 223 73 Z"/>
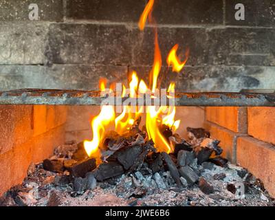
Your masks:
<path fill-rule="evenodd" d="M 236 159 L 240 166 L 263 181 L 270 195 L 275 196 L 275 148 L 253 137 L 239 137 L 236 147 Z"/>

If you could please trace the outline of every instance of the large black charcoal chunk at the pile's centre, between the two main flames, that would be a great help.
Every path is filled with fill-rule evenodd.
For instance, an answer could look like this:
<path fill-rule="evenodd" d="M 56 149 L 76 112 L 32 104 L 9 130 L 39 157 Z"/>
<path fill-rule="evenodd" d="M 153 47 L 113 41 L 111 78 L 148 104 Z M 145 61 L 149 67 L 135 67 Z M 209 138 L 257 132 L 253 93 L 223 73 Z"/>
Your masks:
<path fill-rule="evenodd" d="M 125 170 L 128 170 L 133 166 L 137 157 L 142 153 L 142 146 L 136 145 L 128 148 L 123 148 L 118 151 L 118 162 L 122 164 Z"/>

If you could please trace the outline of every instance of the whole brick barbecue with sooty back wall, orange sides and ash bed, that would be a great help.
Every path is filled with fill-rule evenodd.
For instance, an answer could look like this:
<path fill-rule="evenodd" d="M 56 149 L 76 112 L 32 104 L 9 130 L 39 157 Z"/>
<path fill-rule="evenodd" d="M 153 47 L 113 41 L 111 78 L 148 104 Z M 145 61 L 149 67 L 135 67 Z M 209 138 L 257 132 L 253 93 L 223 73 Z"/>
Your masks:
<path fill-rule="evenodd" d="M 274 205 L 273 1 L 243 0 L 244 21 L 239 1 L 155 1 L 142 32 L 145 0 L 37 0 L 38 21 L 30 3 L 0 1 L 0 206 Z M 149 140 L 143 113 L 127 133 L 103 127 L 91 157 L 98 81 L 127 85 L 134 70 L 150 81 L 154 36 L 162 61 L 175 43 L 188 60 L 180 73 L 162 62 L 159 76 L 175 81 L 181 126 L 155 126 L 173 151 Z"/>

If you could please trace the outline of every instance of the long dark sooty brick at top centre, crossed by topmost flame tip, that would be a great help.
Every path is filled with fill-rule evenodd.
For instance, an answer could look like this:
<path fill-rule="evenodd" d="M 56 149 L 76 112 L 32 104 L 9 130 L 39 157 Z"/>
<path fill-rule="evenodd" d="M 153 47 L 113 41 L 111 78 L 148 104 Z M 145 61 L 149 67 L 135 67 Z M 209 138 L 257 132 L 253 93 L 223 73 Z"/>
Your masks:
<path fill-rule="evenodd" d="M 146 1 L 135 0 L 70 0 L 67 18 L 137 23 Z M 159 24 L 222 23 L 223 1 L 155 1 L 153 16 Z M 119 13 L 118 13 L 119 12 Z"/>

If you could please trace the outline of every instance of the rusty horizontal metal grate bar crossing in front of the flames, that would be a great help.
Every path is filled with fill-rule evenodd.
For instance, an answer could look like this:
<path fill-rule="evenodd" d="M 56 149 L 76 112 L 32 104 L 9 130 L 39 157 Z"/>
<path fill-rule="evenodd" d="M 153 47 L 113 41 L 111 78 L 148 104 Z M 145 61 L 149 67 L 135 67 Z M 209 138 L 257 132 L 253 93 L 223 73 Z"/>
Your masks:
<path fill-rule="evenodd" d="M 100 105 L 102 100 L 104 100 L 104 97 L 100 97 L 100 91 L 51 89 L 19 89 L 12 91 L 0 91 L 0 104 Z M 137 101 L 140 100 L 137 99 Z M 142 101 L 145 104 L 145 101 Z M 275 93 L 176 93 L 175 105 L 201 107 L 275 107 Z"/>

